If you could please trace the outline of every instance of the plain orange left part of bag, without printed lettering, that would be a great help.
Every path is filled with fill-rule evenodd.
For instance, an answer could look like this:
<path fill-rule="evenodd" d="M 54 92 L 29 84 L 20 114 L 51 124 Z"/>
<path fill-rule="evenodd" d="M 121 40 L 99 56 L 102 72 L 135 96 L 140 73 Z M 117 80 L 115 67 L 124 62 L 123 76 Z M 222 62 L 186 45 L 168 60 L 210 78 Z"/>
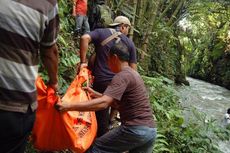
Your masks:
<path fill-rule="evenodd" d="M 40 77 L 36 81 L 36 86 L 38 108 L 32 131 L 34 147 L 44 151 L 70 147 L 71 140 L 68 139 L 62 116 L 54 108 L 58 97 L 52 88 L 46 87 Z"/>

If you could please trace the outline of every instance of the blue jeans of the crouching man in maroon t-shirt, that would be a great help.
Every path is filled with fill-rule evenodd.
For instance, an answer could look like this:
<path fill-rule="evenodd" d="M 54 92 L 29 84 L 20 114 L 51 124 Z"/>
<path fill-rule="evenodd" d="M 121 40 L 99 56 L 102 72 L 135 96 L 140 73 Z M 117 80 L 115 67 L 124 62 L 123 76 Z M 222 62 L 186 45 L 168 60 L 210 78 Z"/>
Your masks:
<path fill-rule="evenodd" d="M 121 125 L 97 138 L 87 153 L 152 153 L 155 139 L 155 128 Z"/>

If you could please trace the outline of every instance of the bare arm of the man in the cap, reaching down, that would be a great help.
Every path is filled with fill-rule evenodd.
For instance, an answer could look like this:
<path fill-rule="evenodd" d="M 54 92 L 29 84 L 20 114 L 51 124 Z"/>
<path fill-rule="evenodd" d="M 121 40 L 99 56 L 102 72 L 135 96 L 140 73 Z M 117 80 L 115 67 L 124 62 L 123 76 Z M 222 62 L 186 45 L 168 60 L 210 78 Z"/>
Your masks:
<path fill-rule="evenodd" d="M 80 41 L 80 59 L 81 63 L 86 63 L 86 53 L 89 47 L 89 43 L 91 42 L 91 37 L 88 34 L 84 34 L 81 37 Z"/>

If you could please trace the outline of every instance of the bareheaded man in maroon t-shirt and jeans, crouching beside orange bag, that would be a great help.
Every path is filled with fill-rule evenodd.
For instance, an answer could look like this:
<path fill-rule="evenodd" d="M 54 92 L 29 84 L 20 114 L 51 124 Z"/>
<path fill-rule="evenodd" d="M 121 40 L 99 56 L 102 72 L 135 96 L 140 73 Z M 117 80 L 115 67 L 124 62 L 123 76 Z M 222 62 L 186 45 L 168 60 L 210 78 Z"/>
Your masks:
<path fill-rule="evenodd" d="M 103 94 L 85 102 L 57 104 L 60 111 L 95 111 L 116 107 L 121 126 L 97 138 L 87 153 L 152 153 L 156 138 L 155 123 L 146 88 L 140 75 L 130 68 L 129 52 L 122 42 L 115 44 L 109 53 L 108 65 L 116 73 Z"/>

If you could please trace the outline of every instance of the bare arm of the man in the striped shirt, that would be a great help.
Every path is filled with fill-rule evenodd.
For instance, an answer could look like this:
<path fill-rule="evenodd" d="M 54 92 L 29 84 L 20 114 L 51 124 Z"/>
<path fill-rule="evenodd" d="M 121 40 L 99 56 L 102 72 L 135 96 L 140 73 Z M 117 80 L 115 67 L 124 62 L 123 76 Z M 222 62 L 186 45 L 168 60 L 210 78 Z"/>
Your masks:
<path fill-rule="evenodd" d="M 41 59 L 49 76 L 49 85 L 57 90 L 58 83 L 58 48 L 54 44 L 51 47 L 41 47 Z"/>

